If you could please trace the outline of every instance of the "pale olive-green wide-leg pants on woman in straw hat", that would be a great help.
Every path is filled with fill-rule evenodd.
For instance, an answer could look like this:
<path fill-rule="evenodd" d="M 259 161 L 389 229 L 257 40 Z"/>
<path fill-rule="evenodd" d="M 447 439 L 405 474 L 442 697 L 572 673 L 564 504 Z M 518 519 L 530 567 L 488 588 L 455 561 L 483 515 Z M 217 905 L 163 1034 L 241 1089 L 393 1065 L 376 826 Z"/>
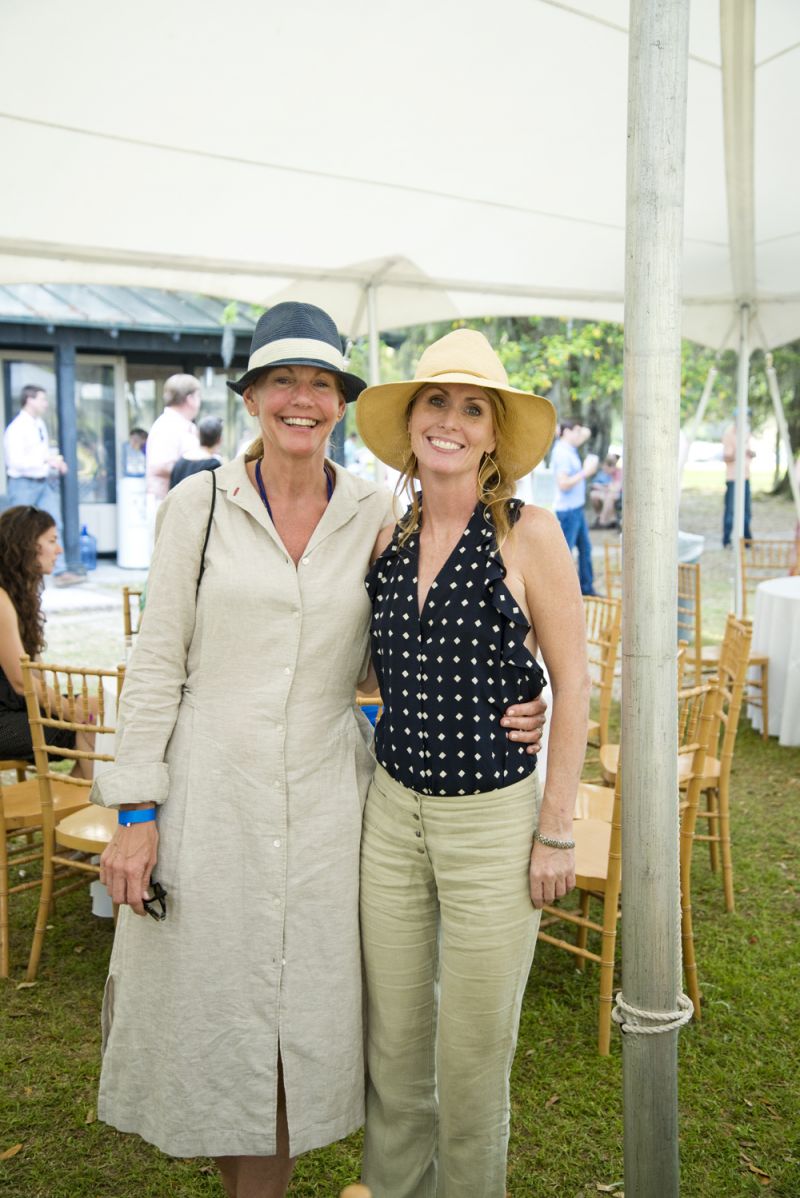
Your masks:
<path fill-rule="evenodd" d="M 377 767 L 360 882 L 374 1198 L 504 1198 L 539 801 L 535 774 L 430 797 Z"/>

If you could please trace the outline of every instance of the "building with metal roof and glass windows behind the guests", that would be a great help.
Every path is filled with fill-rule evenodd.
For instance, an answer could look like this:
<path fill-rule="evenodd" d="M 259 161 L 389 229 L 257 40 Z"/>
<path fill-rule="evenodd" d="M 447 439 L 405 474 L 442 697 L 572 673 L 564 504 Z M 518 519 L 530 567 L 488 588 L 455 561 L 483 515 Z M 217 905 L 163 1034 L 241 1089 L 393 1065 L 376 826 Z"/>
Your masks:
<path fill-rule="evenodd" d="M 0 286 L 0 404 L 4 428 L 19 411 L 22 388 L 42 387 L 50 443 L 68 472 L 61 486 L 65 550 L 79 561 L 86 525 L 99 552 L 117 549 L 122 480 L 135 473 L 131 429 L 149 430 L 163 409 L 171 374 L 201 385 L 200 416 L 224 423 L 224 453 L 234 456 L 251 432 L 241 399 L 226 386 L 247 365 L 259 310 L 187 292 L 149 288 Z M 6 490 L 0 441 L 0 492 Z"/>

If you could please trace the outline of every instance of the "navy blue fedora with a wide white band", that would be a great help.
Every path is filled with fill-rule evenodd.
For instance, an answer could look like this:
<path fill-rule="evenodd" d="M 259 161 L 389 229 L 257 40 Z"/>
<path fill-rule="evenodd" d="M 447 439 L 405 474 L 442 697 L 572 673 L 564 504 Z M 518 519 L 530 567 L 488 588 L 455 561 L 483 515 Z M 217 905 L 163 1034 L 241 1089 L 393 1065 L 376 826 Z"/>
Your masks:
<path fill-rule="evenodd" d="M 272 367 L 321 367 L 341 379 L 347 403 L 366 387 L 363 379 L 347 374 L 341 338 L 327 311 L 313 303 L 278 303 L 259 317 L 253 331 L 247 370 L 231 391 L 243 395 L 247 387 Z"/>

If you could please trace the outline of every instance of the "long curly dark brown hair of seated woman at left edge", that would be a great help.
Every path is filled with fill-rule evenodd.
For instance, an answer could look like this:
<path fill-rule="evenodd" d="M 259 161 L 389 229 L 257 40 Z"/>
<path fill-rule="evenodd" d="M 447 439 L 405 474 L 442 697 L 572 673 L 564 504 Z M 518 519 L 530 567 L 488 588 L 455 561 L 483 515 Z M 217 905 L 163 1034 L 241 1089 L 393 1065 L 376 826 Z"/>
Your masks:
<path fill-rule="evenodd" d="M 44 648 L 44 583 L 37 541 L 54 526 L 50 513 L 41 508 L 8 508 L 0 515 L 0 587 L 14 605 L 19 636 L 31 658 Z"/>

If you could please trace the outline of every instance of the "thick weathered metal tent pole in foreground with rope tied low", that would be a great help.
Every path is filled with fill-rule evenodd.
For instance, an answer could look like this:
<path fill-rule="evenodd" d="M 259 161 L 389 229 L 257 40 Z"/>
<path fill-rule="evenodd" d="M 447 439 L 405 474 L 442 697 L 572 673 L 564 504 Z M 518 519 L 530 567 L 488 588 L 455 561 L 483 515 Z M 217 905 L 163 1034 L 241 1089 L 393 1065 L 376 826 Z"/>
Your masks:
<path fill-rule="evenodd" d="M 631 0 L 623 550 L 625 1194 L 675 1198 L 679 873 L 675 605 L 689 0 Z M 659 1034 L 642 1034 L 655 1025 Z"/>

